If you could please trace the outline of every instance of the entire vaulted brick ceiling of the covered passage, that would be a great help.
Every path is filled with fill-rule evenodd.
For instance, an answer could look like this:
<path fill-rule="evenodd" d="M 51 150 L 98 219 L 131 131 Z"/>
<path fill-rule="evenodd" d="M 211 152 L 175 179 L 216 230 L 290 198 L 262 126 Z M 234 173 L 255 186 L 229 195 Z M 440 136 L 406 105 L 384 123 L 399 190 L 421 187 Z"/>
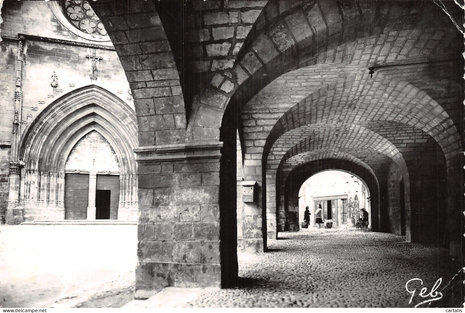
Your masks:
<path fill-rule="evenodd" d="M 322 49 L 308 66 L 272 80 L 243 106 L 246 146 L 266 139 L 266 165 L 279 167 L 278 175 L 334 156 L 371 168 L 386 169 L 392 160 L 405 167 L 404 156 L 433 150 L 434 140 L 446 155 L 459 150 L 461 71 L 453 66 L 461 63 L 459 33 L 426 23 L 425 14 L 403 20 L 402 28 Z M 252 149 L 246 158 L 253 158 Z"/>

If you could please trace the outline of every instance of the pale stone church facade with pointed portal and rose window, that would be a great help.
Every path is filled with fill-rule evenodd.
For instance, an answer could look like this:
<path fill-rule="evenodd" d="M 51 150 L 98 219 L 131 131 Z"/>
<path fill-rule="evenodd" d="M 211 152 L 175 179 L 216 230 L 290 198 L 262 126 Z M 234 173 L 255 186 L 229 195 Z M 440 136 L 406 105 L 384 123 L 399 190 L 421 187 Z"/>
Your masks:
<path fill-rule="evenodd" d="M 137 221 L 133 98 L 92 8 L 11 1 L 2 19 L 1 218 Z"/>

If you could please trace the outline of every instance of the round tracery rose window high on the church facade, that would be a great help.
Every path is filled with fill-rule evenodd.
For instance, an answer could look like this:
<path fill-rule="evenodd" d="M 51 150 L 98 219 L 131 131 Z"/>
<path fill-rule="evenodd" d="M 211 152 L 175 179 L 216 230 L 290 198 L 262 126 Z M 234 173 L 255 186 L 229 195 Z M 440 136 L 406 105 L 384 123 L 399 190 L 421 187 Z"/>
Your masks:
<path fill-rule="evenodd" d="M 68 20 L 81 32 L 101 36 L 107 35 L 102 22 L 95 15 L 88 1 L 67 0 L 63 1 L 62 4 Z"/>

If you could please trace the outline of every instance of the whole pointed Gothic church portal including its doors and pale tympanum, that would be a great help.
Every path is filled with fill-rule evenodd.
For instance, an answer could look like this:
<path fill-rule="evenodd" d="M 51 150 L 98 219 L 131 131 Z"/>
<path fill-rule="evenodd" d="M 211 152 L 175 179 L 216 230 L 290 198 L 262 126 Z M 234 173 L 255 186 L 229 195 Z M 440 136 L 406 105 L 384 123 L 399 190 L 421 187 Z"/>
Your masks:
<path fill-rule="evenodd" d="M 96 85 L 70 92 L 40 111 L 20 144 L 25 220 L 136 220 L 136 134 L 133 109 Z M 97 190 L 107 191 L 96 198 Z M 95 200 L 105 207 L 109 201 L 110 208 L 97 216 Z M 87 202 L 86 209 L 74 212 L 70 205 L 75 201 L 79 206 Z"/>

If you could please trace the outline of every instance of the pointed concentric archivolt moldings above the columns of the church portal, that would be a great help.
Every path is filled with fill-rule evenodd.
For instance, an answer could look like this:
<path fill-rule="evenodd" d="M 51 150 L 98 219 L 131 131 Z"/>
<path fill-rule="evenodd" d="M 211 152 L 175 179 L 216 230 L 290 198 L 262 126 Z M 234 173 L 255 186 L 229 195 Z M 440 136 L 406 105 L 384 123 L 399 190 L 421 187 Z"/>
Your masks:
<path fill-rule="evenodd" d="M 75 144 L 94 130 L 108 141 L 119 161 L 119 169 L 116 166 L 115 169 L 100 169 L 100 172 L 136 173 L 135 112 L 115 95 L 95 85 L 65 94 L 40 111 L 23 133 L 20 157 L 27 168 L 64 172 Z M 69 168 L 78 169 L 89 170 Z"/>

